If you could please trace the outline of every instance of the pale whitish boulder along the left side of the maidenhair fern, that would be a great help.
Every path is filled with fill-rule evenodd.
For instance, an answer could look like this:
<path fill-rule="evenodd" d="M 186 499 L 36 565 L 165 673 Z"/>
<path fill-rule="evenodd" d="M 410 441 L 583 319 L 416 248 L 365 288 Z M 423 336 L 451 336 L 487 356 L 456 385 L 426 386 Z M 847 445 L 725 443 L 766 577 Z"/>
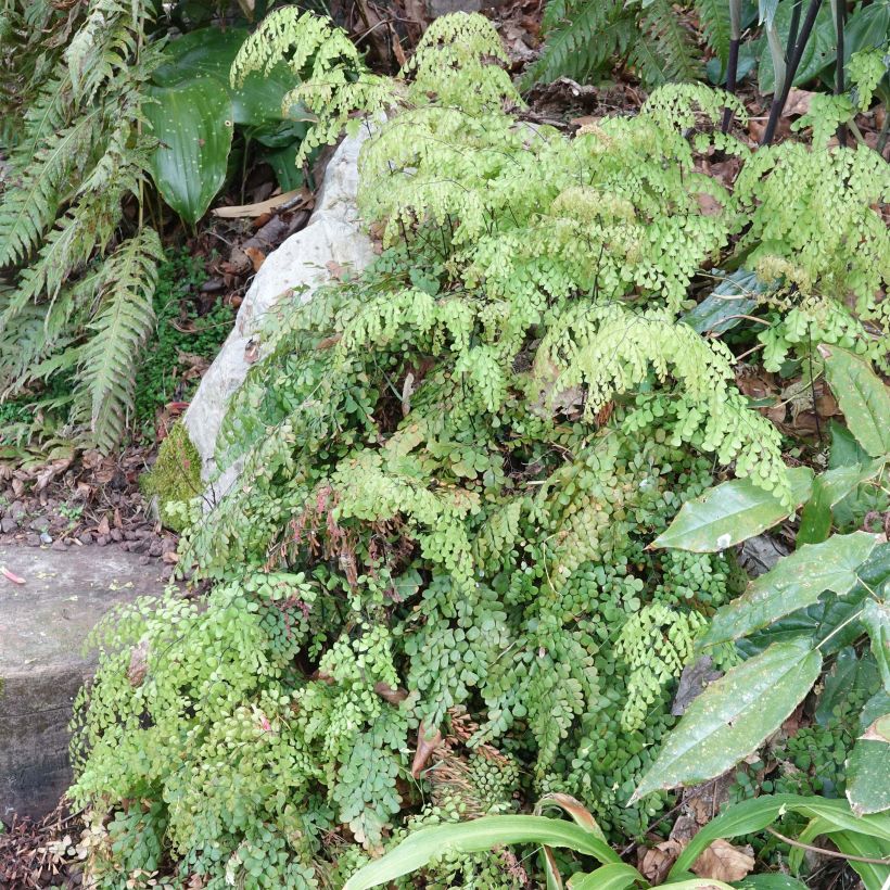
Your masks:
<path fill-rule="evenodd" d="M 356 208 L 358 152 L 366 138 L 361 130 L 347 137 L 334 152 L 308 225 L 266 257 L 238 310 L 234 328 L 186 411 L 183 422 L 201 455 L 202 478 L 212 483 L 209 504 L 225 494 L 240 471 L 232 467 L 217 476 L 214 453 L 232 395 L 244 382 L 257 351 L 262 358 L 259 330 L 264 316 L 292 292 L 304 302 L 312 300 L 315 291 L 333 277 L 331 268 L 360 271 L 373 258 L 373 245 Z"/>

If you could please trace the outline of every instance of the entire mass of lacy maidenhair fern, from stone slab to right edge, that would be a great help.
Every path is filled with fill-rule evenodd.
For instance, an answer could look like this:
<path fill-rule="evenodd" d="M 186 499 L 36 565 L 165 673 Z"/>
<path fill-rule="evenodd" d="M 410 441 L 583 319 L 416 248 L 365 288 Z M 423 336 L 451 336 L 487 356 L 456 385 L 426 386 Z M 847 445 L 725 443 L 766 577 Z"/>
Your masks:
<path fill-rule="evenodd" d="M 648 545 L 720 465 L 791 498 L 733 354 L 678 320 L 690 281 L 746 229 L 777 307 L 830 306 L 875 348 L 887 173 L 867 150 L 779 147 L 733 193 L 698 162 L 746 161 L 714 126 L 734 100 L 702 87 L 573 138 L 530 127 L 481 17 L 437 20 L 390 79 L 285 8 L 234 73 L 282 59 L 310 65 L 285 100 L 318 115 L 307 149 L 371 131 L 359 200 L 384 247 L 270 320 L 217 454 L 243 473 L 187 533 L 207 598 L 139 602 L 97 635 L 72 791 L 106 825 L 92 868 L 104 887 L 169 859 L 205 888 L 336 887 L 408 825 L 556 790 L 640 836 L 666 796 L 624 804 L 737 576 L 728 555 Z M 500 855 L 446 853 L 428 880 L 511 886 Z"/>

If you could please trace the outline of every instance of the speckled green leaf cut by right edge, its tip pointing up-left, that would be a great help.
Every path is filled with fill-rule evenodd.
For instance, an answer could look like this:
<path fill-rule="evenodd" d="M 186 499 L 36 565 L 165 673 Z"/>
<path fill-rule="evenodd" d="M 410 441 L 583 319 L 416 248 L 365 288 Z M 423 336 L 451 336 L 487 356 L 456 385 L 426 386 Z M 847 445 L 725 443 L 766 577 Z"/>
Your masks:
<path fill-rule="evenodd" d="M 859 356 L 825 345 L 819 353 L 850 432 L 872 457 L 890 454 L 890 391 Z"/>

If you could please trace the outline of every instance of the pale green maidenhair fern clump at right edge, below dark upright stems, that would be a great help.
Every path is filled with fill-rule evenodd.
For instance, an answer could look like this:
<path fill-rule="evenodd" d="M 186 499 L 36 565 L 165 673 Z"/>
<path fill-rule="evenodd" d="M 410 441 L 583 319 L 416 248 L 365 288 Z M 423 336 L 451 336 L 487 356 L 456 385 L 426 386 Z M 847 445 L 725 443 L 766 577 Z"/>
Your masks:
<path fill-rule="evenodd" d="M 758 152 L 736 182 L 750 214 L 740 243 L 776 307 L 760 339 L 764 364 L 836 343 L 888 367 L 890 167 L 864 145 L 823 151 L 786 142 Z"/>

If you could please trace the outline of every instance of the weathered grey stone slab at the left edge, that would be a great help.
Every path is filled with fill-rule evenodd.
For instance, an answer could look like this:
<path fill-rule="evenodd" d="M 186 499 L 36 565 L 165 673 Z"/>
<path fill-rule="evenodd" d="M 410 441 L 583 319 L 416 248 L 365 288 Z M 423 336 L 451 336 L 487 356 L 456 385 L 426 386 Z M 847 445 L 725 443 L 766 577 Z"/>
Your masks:
<path fill-rule="evenodd" d="M 160 595 L 169 568 L 124 550 L 0 546 L 0 819 L 40 817 L 71 781 L 67 724 L 92 671 L 84 641 L 113 606 Z"/>

